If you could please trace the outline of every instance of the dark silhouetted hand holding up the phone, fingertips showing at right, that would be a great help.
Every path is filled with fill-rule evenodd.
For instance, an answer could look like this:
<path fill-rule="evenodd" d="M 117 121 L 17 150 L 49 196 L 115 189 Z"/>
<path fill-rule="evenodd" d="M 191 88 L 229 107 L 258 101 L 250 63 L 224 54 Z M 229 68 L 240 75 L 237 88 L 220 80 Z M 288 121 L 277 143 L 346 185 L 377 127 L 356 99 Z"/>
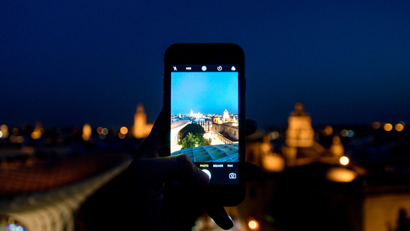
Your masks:
<path fill-rule="evenodd" d="M 124 190 L 124 204 L 120 213 L 129 219 L 138 230 L 174 230 L 182 219 L 186 209 L 192 207 L 193 202 L 175 198 L 172 203 L 164 201 L 163 188 L 166 182 L 179 181 L 181 184 L 205 185 L 209 183 L 208 175 L 201 171 L 187 155 L 164 156 L 162 141 L 163 110 L 147 139 L 141 144 L 137 157 L 126 171 L 126 178 L 122 183 Z M 247 135 L 256 130 L 256 122 L 247 120 Z M 247 178 L 255 180 L 261 177 L 262 170 L 251 163 L 247 163 Z M 170 200 L 170 199 L 169 199 Z M 175 206 L 177 205 L 177 206 Z M 229 229 L 232 220 L 222 206 L 205 209 L 207 214 L 221 228 Z"/>

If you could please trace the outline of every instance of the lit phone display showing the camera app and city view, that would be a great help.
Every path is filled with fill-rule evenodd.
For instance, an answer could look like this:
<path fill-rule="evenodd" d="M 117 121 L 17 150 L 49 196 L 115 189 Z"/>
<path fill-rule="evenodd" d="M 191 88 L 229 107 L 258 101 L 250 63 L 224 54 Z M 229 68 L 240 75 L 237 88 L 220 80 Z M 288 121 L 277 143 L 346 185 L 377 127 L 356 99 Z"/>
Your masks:
<path fill-rule="evenodd" d="M 238 184 L 238 66 L 172 65 L 171 156 L 186 154 L 210 184 Z"/>

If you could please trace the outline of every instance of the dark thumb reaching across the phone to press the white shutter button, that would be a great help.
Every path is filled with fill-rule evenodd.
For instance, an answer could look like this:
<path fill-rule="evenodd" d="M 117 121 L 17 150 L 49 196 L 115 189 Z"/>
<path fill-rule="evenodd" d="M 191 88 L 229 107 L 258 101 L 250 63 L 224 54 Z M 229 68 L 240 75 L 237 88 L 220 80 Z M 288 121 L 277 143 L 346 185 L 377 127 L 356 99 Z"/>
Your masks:
<path fill-rule="evenodd" d="M 128 170 L 136 183 L 157 185 L 169 181 L 184 184 L 204 185 L 209 183 L 209 176 L 201 171 L 187 155 L 151 159 L 135 159 Z"/>

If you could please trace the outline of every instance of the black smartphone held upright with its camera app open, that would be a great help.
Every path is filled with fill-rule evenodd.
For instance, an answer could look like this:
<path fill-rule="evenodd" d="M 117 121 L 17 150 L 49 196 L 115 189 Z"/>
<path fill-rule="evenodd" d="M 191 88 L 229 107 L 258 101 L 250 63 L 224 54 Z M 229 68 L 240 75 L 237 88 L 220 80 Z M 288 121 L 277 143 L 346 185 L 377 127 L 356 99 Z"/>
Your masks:
<path fill-rule="evenodd" d="M 174 44 L 164 62 L 166 150 L 188 155 L 210 176 L 206 186 L 170 187 L 206 203 L 239 204 L 245 196 L 243 50 L 236 44 Z"/>

